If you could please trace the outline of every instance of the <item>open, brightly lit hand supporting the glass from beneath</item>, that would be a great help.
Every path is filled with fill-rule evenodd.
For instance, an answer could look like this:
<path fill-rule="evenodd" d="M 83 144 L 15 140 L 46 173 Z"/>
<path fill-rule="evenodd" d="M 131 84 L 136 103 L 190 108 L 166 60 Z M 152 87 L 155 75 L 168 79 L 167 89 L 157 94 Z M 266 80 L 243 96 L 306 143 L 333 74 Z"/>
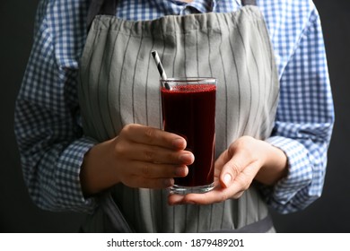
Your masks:
<path fill-rule="evenodd" d="M 206 194 L 170 195 L 170 204 L 223 202 L 237 199 L 253 179 L 273 185 L 287 173 L 283 151 L 264 141 L 242 136 L 215 161 L 214 189 Z"/>

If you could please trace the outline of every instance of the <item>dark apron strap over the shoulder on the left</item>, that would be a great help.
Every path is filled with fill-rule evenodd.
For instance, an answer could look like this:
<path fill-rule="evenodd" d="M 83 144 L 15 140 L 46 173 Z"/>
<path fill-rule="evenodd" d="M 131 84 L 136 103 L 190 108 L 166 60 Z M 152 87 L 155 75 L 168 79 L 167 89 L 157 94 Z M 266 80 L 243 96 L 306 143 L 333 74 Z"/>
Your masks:
<path fill-rule="evenodd" d="M 116 12 L 117 0 L 92 0 L 86 19 L 87 30 L 90 29 L 92 21 L 98 14 L 114 15 Z"/>

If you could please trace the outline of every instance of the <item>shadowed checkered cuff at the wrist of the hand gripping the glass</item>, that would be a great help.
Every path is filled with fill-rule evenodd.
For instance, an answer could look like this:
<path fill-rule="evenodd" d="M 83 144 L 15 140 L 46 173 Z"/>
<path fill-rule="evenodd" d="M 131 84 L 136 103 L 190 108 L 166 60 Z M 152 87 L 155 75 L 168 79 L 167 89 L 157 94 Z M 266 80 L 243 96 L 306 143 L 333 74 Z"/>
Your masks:
<path fill-rule="evenodd" d="M 83 157 L 96 143 L 92 138 L 80 138 L 69 144 L 58 160 L 59 203 L 74 212 L 92 212 L 96 206 L 93 197 L 84 197 L 80 182 Z"/>

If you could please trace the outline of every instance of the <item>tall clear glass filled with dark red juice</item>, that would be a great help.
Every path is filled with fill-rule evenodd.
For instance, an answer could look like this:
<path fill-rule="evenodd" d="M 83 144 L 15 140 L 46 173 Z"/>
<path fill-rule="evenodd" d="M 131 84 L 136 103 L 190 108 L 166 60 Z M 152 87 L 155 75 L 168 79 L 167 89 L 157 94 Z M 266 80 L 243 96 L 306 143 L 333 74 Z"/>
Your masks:
<path fill-rule="evenodd" d="M 211 77 L 161 80 L 162 125 L 187 140 L 195 155 L 187 177 L 175 178 L 171 193 L 206 193 L 214 188 L 216 79 Z"/>

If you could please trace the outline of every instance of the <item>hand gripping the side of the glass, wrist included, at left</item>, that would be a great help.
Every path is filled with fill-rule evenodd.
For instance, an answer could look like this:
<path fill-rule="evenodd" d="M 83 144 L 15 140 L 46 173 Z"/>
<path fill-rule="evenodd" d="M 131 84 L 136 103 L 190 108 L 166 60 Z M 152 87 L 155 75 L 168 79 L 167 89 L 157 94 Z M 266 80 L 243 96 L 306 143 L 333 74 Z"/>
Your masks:
<path fill-rule="evenodd" d="M 85 154 L 81 180 L 85 195 L 119 182 L 130 187 L 167 188 L 173 177 L 185 177 L 194 161 L 177 134 L 144 125 L 126 125 L 118 137 Z"/>

